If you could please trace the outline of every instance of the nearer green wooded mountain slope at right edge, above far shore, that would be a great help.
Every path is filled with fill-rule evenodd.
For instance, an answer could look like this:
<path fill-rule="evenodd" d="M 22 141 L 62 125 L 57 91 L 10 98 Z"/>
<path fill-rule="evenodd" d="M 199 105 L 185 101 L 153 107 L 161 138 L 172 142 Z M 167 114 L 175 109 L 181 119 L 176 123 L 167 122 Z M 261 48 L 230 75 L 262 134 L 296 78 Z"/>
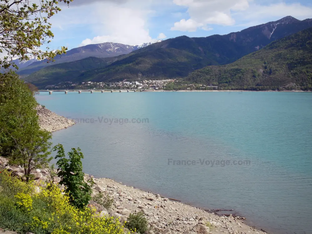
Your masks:
<path fill-rule="evenodd" d="M 312 90 L 312 28 L 274 41 L 234 63 L 194 71 L 186 80 L 226 89 L 300 86 Z"/>

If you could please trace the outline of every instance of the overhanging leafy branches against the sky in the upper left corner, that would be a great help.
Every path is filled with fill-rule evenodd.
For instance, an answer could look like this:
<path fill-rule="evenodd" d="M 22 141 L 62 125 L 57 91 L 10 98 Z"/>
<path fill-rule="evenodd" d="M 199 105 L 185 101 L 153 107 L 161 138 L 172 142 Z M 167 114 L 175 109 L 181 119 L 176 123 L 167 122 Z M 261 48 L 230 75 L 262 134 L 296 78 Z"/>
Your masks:
<path fill-rule="evenodd" d="M 48 20 L 57 12 L 59 2 L 69 4 L 73 0 L 40 0 L 39 5 L 31 4 L 31 0 L 0 0 L 0 53 L 6 56 L 0 58 L 0 68 L 8 68 L 12 58 L 29 60 L 29 55 L 38 60 L 51 61 L 56 55 L 66 52 L 66 47 L 60 50 L 42 51 L 40 47 L 50 43 L 54 37 L 51 23 Z M 17 68 L 16 65 L 14 65 Z"/>

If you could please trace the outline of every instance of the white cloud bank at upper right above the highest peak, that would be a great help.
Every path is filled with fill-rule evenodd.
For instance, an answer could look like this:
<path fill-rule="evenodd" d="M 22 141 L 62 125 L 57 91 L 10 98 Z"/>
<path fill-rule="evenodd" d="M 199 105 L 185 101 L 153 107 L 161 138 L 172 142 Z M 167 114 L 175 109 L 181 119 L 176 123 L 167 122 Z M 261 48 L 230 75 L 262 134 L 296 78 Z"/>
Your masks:
<path fill-rule="evenodd" d="M 236 21 L 268 22 L 291 15 L 298 19 L 312 17 L 312 8 L 300 3 L 284 2 L 260 5 L 259 0 L 173 0 L 186 7 L 189 19 L 175 22 L 171 30 L 194 32 L 198 28 L 209 29 L 210 25 L 232 26 Z"/>

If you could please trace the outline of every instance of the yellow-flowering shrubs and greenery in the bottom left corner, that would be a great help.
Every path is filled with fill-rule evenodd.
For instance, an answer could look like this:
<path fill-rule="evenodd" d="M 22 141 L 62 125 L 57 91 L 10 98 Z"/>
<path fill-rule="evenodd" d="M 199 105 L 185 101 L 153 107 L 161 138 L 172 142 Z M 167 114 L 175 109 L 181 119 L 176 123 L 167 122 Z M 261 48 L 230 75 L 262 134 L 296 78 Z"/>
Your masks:
<path fill-rule="evenodd" d="M 2 193 L 3 186 L 9 183 L 20 189 Z M 114 217 L 100 217 L 95 208 L 78 209 L 71 205 L 71 198 L 53 183 L 46 184 L 39 193 L 34 193 L 33 188 L 34 182 L 22 182 L 7 171 L 0 173 L 1 228 L 35 234 L 124 233 L 123 226 Z"/>

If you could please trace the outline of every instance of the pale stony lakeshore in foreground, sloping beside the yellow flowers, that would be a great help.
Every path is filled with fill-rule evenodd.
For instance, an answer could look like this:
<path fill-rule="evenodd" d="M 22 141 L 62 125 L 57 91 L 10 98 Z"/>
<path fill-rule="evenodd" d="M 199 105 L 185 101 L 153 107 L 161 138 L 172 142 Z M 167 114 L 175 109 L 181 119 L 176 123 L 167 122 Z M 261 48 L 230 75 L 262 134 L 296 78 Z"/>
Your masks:
<path fill-rule="evenodd" d="M 8 164 L 6 158 L 0 157 L 0 167 L 11 171 L 15 175 L 24 178 L 23 168 Z M 32 176 L 40 190 L 49 178 L 48 169 L 37 169 Z M 130 213 L 144 212 L 149 222 L 150 230 L 145 234 L 264 234 L 244 223 L 244 217 L 219 216 L 215 213 L 192 207 L 181 202 L 173 201 L 159 194 L 145 192 L 134 187 L 129 187 L 108 178 L 94 178 L 85 174 L 85 181 L 93 179 L 93 196 L 103 193 L 113 198 L 113 206 L 107 210 L 100 204 L 91 200 L 89 206 L 97 209 L 100 216 L 110 215 L 121 222 L 127 221 Z M 60 182 L 55 177 L 55 183 Z M 62 188 L 62 186 L 60 186 Z M 125 230 L 126 231 L 126 230 Z M 0 232 L 1 233 L 1 232 Z"/>

